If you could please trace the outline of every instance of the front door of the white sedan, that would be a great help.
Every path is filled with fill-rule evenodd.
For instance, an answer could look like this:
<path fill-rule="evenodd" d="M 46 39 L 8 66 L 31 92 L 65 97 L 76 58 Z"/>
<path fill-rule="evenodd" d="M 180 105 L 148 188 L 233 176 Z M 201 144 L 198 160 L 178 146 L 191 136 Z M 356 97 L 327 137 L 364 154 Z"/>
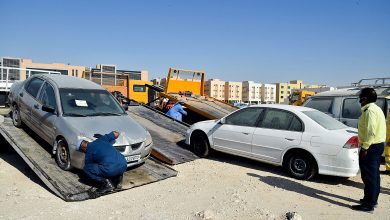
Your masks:
<path fill-rule="evenodd" d="M 252 136 L 263 108 L 248 107 L 224 118 L 224 123 L 213 132 L 213 146 L 220 151 L 249 155 Z"/>

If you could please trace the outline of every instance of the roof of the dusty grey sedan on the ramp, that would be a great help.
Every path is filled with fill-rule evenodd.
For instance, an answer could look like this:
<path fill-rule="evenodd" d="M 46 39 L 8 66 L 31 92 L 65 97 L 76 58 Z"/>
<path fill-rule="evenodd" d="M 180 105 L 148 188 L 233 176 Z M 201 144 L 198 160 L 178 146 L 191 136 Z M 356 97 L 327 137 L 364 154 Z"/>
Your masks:
<path fill-rule="evenodd" d="M 100 85 L 74 76 L 68 75 L 59 75 L 59 74 L 37 74 L 34 76 L 41 77 L 43 79 L 47 79 L 50 82 L 54 83 L 57 88 L 75 88 L 75 89 L 104 89 Z"/>

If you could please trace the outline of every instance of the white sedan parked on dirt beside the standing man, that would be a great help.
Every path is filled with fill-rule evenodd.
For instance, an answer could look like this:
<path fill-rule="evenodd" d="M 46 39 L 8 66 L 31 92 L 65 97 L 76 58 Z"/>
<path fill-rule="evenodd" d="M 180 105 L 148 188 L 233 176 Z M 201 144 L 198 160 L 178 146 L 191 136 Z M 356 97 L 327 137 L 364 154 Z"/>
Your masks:
<path fill-rule="evenodd" d="M 200 157 L 210 149 L 283 166 L 297 179 L 317 173 L 352 177 L 359 170 L 357 129 L 320 111 L 290 105 L 254 105 L 187 130 Z"/>

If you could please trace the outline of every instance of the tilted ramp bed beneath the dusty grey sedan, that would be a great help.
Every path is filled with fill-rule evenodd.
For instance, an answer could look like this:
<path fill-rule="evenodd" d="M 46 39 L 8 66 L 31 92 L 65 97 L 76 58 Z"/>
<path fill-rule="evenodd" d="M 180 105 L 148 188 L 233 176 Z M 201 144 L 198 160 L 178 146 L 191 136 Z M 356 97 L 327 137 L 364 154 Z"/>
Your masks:
<path fill-rule="evenodd" d="M 33 139 L 28 133 L 13 126 L 10 119 L 0 123 L 0 133 L 15 149 L 23 160 L 38 175 L 42 182 L 65 201 L 82 201 L 98 197 L 94 188 L 80 182 L 80 170 L 74 172 L 59 168 L 49 153 L 50 150 L 40 140 Z M 177 175 L 177 171 L 154 160 L 130 168 L 125 172 L 122 190 L 131 189 L 148 183 L 157 182 Z M 121 191 L 122 191 L 121 190 Z"/>

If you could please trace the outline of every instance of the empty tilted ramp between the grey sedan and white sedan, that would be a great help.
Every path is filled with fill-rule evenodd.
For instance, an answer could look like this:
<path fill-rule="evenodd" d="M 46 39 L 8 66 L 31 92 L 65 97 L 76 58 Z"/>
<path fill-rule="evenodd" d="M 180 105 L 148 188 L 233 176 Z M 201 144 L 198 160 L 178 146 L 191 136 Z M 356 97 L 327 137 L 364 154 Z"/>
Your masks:
<path fill-rule="evenodd" d="M 188 125 L 145 105 L 129 106 L 128 114 L 152 135 L 152 156 L 167 163 L 180 164 L 198 157 L 185 145 Z"/>

